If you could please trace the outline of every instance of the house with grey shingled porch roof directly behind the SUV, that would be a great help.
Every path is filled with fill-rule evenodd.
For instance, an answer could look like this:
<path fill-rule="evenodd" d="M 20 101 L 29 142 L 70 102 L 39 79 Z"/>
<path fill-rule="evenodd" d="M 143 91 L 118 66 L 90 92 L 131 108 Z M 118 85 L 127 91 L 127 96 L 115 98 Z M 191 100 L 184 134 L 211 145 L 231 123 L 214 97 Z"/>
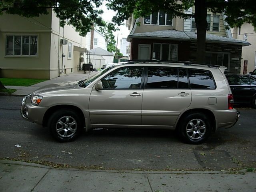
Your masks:
<path fill-rule="evenodd" d="M 184 13 L 193 14 L 194 8 Z M 243 46 L 250 43 L 232 38 L 222 14 L 207 12 L 206 63 L 222 65 L 229 72 L 240 73 Z M 140 25 L 138 25 L 140 23 Z M 144 18 L 131 16 L 126 21 L 130 30 L 131 59 L 187 60 L 196 62 L 196 24 L 193 18 L 172 18 L 163 11 Z"/>

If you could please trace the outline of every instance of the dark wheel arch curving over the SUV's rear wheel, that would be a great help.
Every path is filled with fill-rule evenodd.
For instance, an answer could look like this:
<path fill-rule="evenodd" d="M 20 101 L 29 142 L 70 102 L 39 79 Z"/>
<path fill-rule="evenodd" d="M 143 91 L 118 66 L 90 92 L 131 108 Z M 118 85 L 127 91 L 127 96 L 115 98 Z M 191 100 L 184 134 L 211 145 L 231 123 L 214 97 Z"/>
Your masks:
<path fill-rule="evenodd" d="M 203 108 L 198 108 L 198 109 L 190 109 L 190 110 L 187 110 L 185 111 L 184 113 L 182 113 L 180 115 L 180 117 L 178 118 L 178 121 L 176 123 L 176 130 L 179 128 L 179 124 L 180 122 L 182 121 L 182 119 L 188 115 L 188 114 L 192 114 L 192 113 L 203 113 L 205 114 L 206 116 L 208 116 L 211 120 L 210 124 L 212 125 L 212 131 L 216 131 L 216 121 L 215 121 L 215 116 L 214 116 L 214 113 L 211 111 L 211 110 L 208 110 L 208 109 L 203 109 Z"/>

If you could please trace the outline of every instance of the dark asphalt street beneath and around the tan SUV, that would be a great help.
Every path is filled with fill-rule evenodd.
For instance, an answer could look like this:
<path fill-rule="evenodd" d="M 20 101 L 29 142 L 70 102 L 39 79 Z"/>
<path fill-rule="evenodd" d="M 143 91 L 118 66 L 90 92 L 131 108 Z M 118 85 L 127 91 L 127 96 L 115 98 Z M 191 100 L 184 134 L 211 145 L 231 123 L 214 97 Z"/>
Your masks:
<path fill-rule="evenodd" d="M 52 166 L 113 170 L 236 170 L 256 167 L 256 110 L 239 106 L 238 123 L 200 145 L 170 130 L 92 130 L 58 143 L 20 116 L 20 96 L 0 96 L 0 158 Z M 17 147 L 15 145 L 19 145 Z"/>

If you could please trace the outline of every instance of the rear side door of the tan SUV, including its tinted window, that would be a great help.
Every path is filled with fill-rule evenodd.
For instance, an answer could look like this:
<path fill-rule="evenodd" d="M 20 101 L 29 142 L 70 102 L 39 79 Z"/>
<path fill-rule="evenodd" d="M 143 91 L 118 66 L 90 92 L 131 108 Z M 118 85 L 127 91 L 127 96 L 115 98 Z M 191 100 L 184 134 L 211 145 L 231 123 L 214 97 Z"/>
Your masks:
<path fill-rule="evenodd" d="M 191 91 L 186 69 L 147 68 L 142 98 L 142 125 L 174 126 L 180 113 L 190 103 Z"/>

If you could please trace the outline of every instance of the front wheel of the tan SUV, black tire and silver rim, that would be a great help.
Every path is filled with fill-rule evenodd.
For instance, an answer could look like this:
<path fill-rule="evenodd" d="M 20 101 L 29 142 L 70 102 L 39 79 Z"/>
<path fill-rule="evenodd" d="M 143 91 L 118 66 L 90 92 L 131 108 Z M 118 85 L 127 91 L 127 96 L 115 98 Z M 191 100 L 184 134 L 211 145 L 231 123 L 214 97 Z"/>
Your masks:
<path fill-rule="evenodd" d="M 70 142 L 79 136 L 82 123 L 74 110 L 61 109 L 52 114 L 48 128 L 58 142 Z"/>

